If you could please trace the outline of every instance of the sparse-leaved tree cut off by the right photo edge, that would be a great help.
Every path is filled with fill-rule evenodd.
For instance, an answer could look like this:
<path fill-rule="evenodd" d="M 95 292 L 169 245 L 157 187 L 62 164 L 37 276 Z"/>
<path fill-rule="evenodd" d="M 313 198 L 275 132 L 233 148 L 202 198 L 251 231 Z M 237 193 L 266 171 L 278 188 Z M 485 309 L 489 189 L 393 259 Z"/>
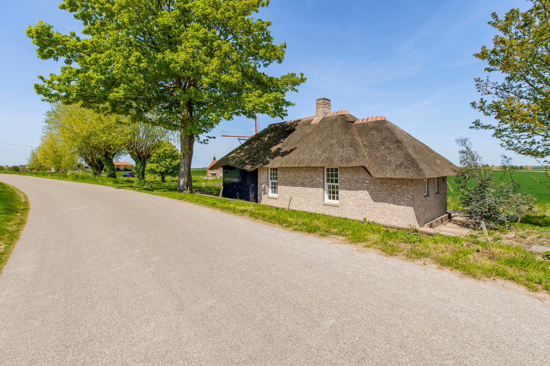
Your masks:
<path fill-rule="evenodd" d="M 472 102 L 497 124 L 474 122 L 471 128 L 489 129 L 502 147 L 518 154 L 548 160 L 550 156 L 550 0 L 527 0 L 526 12 L 511 9 L 489 25 L 500 34 L 493 48 L 474 54 L 488 63 L 485 71 L 504 75 L 503 81 L 476 78 L 477 91 L 487 95 Z"/>

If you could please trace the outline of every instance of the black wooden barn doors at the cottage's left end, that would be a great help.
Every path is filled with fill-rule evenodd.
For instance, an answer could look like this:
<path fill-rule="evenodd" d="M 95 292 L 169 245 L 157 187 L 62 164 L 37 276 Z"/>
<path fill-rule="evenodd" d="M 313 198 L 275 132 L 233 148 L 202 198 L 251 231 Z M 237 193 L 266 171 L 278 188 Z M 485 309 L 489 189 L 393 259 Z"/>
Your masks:
<path fill-rule="evenodd" d="M 225 198 L 258 201 L 258 170 L 251 172 L 234 167 L 223 167 L 223 191 Z"/>

